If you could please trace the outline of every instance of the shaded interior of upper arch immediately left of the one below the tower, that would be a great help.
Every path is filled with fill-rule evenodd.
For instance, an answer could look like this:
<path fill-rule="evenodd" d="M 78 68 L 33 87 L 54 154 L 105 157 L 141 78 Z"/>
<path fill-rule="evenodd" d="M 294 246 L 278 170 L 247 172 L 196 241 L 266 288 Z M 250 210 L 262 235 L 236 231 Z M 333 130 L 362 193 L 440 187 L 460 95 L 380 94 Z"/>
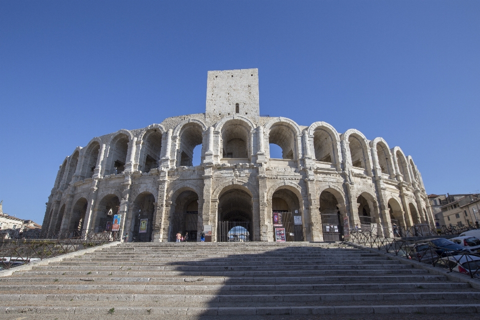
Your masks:
<path fill-rule="evenodd" d="M 190 122 L 185 124 L 179 133 L 180 143 L 177 153 L 178 166 L 193 165 L 193 149 L 195 146 L 202 144 L 203 130 L 198 123 Z"/>

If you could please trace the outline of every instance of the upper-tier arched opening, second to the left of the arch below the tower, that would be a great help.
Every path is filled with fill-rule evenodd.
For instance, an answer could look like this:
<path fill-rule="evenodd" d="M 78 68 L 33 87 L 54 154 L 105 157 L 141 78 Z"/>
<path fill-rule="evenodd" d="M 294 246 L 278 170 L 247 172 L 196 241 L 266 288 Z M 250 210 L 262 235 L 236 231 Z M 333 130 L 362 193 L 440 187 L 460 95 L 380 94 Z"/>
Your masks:
<path fill-rule="evenodd" d="M 161 132 L 158 129 L 147 131 L 141 142 L 140 158 L 138 169 L 142 172 L 149 172 L 158 167 L 161 151 Z"/>

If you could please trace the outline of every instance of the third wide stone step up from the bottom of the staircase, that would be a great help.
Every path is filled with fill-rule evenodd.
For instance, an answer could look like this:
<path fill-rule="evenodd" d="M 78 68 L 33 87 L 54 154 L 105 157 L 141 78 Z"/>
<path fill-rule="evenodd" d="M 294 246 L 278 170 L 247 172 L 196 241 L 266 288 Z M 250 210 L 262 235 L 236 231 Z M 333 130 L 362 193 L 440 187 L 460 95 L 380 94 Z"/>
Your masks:
<path fill-rule="evenodd" d="M 86 283 L 90 281 L 85 281 Z M 469 288 L 468 283 L 462 282 L 392 282 L 392 283 L 328 283 L 328 284 L 256 284 L 256 285 L 204 285 L 204 284 L 1 284 L 0 291 L 39 291 L 39 290 L 119 290 L 121 292 L 134 291 L 168 291 L 168 292 L 201 292 L 201 291 L 303 291 L 312 290 L 377 290 L 377 289 L 440 289 L 440 288 Z"/>

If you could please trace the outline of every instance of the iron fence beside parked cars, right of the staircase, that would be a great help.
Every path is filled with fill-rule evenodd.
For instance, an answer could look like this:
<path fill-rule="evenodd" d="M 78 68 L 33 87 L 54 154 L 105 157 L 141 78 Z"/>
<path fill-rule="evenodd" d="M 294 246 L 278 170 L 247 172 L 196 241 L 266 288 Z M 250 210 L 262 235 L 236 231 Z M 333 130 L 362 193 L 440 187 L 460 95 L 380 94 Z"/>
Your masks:
<path fill-rule="evenodd" d="M 436 246 L 429 241 L 409 241 L 361 230 L 351 230 L 347 242 L 480 278 L 480 254 Z"/>

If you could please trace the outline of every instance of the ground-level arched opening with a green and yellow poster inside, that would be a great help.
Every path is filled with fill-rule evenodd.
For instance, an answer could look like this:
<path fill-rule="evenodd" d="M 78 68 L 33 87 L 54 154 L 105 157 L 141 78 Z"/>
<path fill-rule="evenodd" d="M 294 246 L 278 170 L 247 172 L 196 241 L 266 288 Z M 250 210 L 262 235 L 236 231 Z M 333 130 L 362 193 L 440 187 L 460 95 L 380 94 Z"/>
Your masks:
<path fill-rule="evenodd" d="M 130 224 L 131 241 L 149 242 L 153 230 L 155 197 L 150 192 L 140 193 L 133 202 Z"/>

